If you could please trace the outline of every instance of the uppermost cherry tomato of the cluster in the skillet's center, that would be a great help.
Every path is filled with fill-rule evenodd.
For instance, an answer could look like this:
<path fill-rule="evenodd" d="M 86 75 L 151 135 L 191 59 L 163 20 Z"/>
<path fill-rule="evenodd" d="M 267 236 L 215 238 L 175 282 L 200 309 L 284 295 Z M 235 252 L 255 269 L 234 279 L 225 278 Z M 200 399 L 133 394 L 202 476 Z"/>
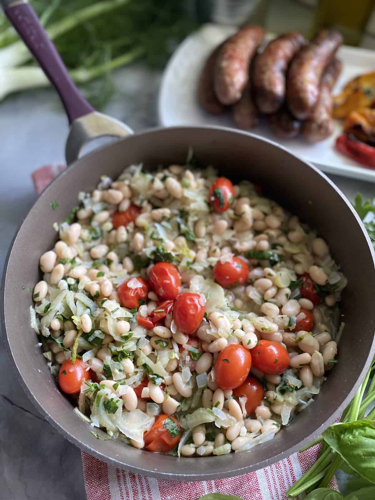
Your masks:
<path fill-rule="evenodd" d="M 148 282 L 151 290 L 162 300 L 176 298 L 181 291 L 177 267 L 169 262 L 156 262 L 149 271 Z"/>

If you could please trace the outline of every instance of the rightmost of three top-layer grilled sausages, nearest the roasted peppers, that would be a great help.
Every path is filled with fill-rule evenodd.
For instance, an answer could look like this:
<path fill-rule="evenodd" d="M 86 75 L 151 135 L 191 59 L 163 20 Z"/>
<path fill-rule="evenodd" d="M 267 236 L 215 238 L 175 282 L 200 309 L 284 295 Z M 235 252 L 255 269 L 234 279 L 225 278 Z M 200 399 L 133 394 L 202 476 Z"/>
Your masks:
<path fill-rule="evenodd" d="M 296 118 L 304 120 L 311 115 L 319 96 L 321 75 L 342 40 L 338 31 L 323 29 L 291 61 L 286 75 L 286 99 Z"/>

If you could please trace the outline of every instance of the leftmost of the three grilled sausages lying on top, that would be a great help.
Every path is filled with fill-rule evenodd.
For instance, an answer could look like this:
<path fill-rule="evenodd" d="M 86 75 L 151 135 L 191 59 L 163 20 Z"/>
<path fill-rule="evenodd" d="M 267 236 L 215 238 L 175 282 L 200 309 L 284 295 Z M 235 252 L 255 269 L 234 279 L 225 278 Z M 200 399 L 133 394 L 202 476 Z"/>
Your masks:
<path fill-rule="evenodd" d="M 248 25 L 223 43 L 214 76 L 215 94 L 222 104 L 234 104 L 240 99 L 248 82 L 250 61 L 263 37 L 262 27 Z"/>

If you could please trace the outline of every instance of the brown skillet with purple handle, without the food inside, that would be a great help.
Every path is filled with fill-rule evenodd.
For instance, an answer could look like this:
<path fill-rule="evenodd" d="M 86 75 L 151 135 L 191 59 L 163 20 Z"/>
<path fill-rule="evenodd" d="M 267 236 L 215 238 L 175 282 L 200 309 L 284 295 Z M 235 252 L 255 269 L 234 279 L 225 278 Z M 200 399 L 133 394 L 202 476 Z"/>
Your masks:
<path fill-rule="evenodd" d="M 27 396 L 43 416 L 81 449 L 121 468 L 174 480 L 205 480 L 249 472 L 290 455 L 317 436 L 352 398 L 375 351 L 374 252 L 366 231 L 337 187 L 312 165 L 274 142 L 256 135 L 216 127 L 159 128 L 128 135 L 125 125 L 92 107 L 79 95 L 51 42 L 27 3 L 2 0 L 10 21 L 34 53 L 60 94 L 71 124 L 66 146 L 67 168 L 38 197 L 21 224 L 4 267 L 1 321 L 6 346 Z M 76 159 L 81 145 L 97 135 L 126 138 Z M 41 139 L 42 140 L 42 139 Z M 44 139 L 44 140 L 47 140 Z M 72 411 L 47 368 L 29 326 L 29 285 L 39 279 L 40 254 L 53 247 L 55 221 L 76 204 L 80 190 L 89 191 L 103 173 L 116 177 L 131 163 L 183 162 L 188 146 L 203 164 L 213 164 L 231 178 L 247 178 L 263 186 L 300 218 L 318 229 L 348 278 L 341 302 L 345 328 L 338 364 L 314 402 L 276 437 L 247 453 L 204 458 L 176 458 L 98 440 Z M 57 200 L 53 211 L 50 202 Z M 26 285 L 23 290 L 22 285 Z"/>

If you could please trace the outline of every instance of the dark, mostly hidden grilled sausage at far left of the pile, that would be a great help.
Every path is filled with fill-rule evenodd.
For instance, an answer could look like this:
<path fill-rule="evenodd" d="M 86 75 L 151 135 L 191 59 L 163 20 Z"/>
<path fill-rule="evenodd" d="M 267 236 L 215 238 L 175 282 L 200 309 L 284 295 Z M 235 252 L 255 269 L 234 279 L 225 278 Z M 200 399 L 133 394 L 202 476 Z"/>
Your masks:
<path fill-rule="evenodd" d="M 221 46 L 222 43 L 209 55 L 200 73 L 198 82 L 198 101 L 202 108 L 211 114 L 220 114 L 225 109 L 225 106 L 221 104 L 213 90 L 213 75 L 215 72 L 216 58 L 220 52 Z"/>

